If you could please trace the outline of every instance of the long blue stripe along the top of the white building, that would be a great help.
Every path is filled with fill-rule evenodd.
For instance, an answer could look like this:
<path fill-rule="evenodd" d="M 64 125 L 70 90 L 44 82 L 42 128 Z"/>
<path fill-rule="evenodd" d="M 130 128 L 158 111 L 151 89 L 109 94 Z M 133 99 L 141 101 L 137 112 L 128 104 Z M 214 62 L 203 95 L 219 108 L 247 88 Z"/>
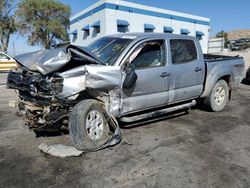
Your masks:
<path fill-rule="evenodd" d="M 201 25 L 209 25 L 209 22 L 203 21 L 203 20 L 197 20 L 197 19 L 192 19 L 192 18 L 187 18 L 187 17 L 182 17 L 182 16 L 174 16 L 166 13 L 160 13 L 160 12 L 155 12 L 155 11 L 150 11 L 150 10 L 143 10 L 139 8 L 133 8 L 133 7 L 128 7 L 124 5 L 117 5 L 117 4 L 112 4 L 112 3 L 104 3 L 80 16 L 77 18 L 74 18 L 70 21 L 70 24 L 74 24 L 92 14 L 95 14 L 97 12 L 100 12 L 103 9 L 111 9 L 111 10 L 119 10 L 123 12 L 132 12 L 136 14 L 142 14 L 142 15 L 147 15 L 147 16 L 154 16 L 154 17 L 161 17 L 161 18 L 168 18 L 168 19 L 173 19 L 177 21 L 183 21 L 183 22 L 189 22 L 189 23 L 196 23 L 196 24 L 201 24 Z"/>

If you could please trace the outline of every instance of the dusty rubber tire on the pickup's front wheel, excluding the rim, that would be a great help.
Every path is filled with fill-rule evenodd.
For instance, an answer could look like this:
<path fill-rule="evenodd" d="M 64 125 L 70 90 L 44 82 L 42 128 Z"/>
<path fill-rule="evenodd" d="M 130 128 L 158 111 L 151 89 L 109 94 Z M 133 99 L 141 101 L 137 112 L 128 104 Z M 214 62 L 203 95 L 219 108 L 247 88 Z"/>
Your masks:
<path fill-rule="evenodd" d="M 103 121 L 103 132 L 99 139 L 95 140 L 89 136 L 87 130 L 87 118 L 90 112 L 99 112 Z M 104 116 L 104 107 L 96 100 L 88 99 L 78 103 L 72 110 L 69 120 L 69 133 L 74 146 L 82 151 L 94 151 L 99 149 L 109 139 L 109 125 Z M 87 117 L 88 116 L 88 117 Z"/>

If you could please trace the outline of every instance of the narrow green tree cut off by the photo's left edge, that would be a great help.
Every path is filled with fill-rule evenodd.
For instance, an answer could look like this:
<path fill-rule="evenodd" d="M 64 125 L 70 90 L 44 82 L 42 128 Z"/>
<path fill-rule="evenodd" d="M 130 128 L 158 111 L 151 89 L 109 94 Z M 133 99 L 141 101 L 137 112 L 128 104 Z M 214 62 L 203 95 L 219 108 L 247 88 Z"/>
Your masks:
<path fill-rule="evenodd" d="M 10 35 L 17 30 L 15 7 L 13 0 L 0 0 L 0 51 L 5 53 L 9 46 Z"/>

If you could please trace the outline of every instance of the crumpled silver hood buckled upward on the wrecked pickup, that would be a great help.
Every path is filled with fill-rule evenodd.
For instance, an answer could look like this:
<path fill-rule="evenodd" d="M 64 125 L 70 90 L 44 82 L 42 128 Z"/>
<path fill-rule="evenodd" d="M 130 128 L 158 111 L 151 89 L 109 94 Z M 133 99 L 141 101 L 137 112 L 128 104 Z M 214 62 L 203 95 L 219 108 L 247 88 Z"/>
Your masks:
<path fill-rule="evenodd" d="M 60 70 L 71 60 L 79 63 L 75 64 L 75 67 L 85 64 L 103 64 L 87 48 L 74 45 L 18 55 L 15 60 L 27 69 L 43 75 Z"/>

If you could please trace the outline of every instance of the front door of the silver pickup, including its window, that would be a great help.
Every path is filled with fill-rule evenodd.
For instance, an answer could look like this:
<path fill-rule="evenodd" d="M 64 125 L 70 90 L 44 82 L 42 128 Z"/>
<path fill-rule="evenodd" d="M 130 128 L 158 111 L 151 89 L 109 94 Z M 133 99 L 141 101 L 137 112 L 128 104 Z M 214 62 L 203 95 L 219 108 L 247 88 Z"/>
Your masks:
<path fill-rule="evenodd" d="M 165 40 L 142 42 L 129 55 L 129 68 L 138 79 L 122 91 L 122 114 L 146 110 L 168 103 L 169 90 Z"/>

